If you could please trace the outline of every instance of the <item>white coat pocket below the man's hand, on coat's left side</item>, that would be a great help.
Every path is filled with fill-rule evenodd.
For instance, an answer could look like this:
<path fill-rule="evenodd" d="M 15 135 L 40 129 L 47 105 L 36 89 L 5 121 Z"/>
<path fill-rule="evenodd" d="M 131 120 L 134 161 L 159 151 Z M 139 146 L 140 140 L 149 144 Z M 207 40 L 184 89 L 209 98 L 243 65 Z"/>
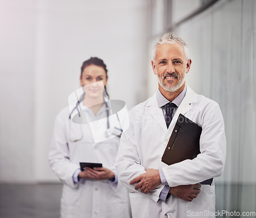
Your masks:
<path fill-rule="evenodd" d="M 130 192 L 130 202 L 133 217 L 148 217 L 149 200 L 139 192 Z"/>

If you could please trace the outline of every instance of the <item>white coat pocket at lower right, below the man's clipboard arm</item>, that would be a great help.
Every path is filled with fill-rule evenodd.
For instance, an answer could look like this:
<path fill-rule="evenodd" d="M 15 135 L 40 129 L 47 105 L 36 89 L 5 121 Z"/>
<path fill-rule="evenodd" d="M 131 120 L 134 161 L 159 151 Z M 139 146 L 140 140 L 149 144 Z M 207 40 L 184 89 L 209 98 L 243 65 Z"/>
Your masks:
<path fill-rule="evenodd" d="M 215 217 L 215 186 L 202 185 L 196 199 L 186 202 L 186 217 Z"/>

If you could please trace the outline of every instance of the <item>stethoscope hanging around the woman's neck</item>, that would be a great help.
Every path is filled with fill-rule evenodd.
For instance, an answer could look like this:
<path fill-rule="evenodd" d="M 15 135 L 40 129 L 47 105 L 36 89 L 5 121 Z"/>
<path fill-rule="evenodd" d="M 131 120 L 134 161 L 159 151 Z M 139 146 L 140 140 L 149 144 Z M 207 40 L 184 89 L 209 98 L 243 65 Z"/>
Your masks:
<path fill-rule="evenodd" d="M 71 115 L 72 115 L 72 113 L 73 113 L 75 110 L 77 110 L 78 116 L 81 117 L 81 114 L 80 114 L 80 111 L 81 111 L 80 103 L 82 102 L 83 99 L 84 99 L 84 94 L 83 94 L 83 95 L 81 96 L 81 98 L 77 101 L 76 106 L 73 108 L 73 110 L 72 110 L 71 113 L 70 113 L 69 119 L 71 119 Z M 115 136 L 117 136 L 117 137 L 121 137 L 123 130 L 122 130 L 121 126 L 120 126 L 120 122 L 119 122 L 120 128 L 114 127 L 114 130 L 117 130 L 117 132 L 118 132 L 119 134 L 115 134 L 114 132 L 112 132 L 112 130 L 111 130 L 111 128 L 110 128 L 110 122 L 109 122 L 110 107 L 109 107 L 109 104 L 108 104 L 108 102 L 105 101 L 105 100 L 104 100 L 104 103 L 105 103 L 105 107 L 106 107 L 106 117 L 107 117 L 105 137 L 108 138 L 108 137 L 110 137 L 112 134 L 115 135 Z M 80 107 L 80 108 L 78 108 L 78 107 Z M 80 111 L 79 111 L 79 109 L 80 109 Z M 80 139 L 77 139 L 77 140 L 74 140 L 74 142 L 79 141 L 79 140 L 81 140 L 81 139 L 83 138 L 82 129 L 81 129 L 81 135 L 82 135 L 81 138 L 80 138 Z"/>

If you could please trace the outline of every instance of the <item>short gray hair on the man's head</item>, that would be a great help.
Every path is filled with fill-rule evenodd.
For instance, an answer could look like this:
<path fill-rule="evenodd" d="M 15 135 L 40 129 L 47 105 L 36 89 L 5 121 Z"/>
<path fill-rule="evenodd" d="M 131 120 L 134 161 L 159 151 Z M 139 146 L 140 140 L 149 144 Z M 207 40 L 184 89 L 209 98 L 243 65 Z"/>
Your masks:
<path fill-rule="evenodd" d="M 173 44 L 175 42 L 178 42 L 178 43 L 180 43 L 180 45 L 182 45 L 184 55 L 185 55 L 186 61 L 187 61 L 188 60 L 188 49 L 187 49 L 186 42 L 182 38 L 176 37 L 173 33 L 166 33 L 158 39 L 158 41 L 156 42 L 154 49 L 153 49 L 154 61 L 156 59 L 156 50 L 159 45 Z"/>

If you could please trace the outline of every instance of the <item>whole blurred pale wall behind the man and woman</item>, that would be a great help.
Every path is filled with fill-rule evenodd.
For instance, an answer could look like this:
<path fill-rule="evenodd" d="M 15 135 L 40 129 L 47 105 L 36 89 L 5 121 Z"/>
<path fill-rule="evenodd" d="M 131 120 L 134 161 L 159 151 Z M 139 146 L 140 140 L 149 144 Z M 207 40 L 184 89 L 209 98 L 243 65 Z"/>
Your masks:
<path fill-rule="evenodd" d="M 56 114 L 79 88 L 82 61 L 102 58 L 112 99 L 151 96 L 159 36 L 192 59 L 187 84 L 220 104 L 227 159 L 217 209 L 256 211 L 256 1 L 0 1 L 1 183 L 57 182 L 47 155 Z"/>

